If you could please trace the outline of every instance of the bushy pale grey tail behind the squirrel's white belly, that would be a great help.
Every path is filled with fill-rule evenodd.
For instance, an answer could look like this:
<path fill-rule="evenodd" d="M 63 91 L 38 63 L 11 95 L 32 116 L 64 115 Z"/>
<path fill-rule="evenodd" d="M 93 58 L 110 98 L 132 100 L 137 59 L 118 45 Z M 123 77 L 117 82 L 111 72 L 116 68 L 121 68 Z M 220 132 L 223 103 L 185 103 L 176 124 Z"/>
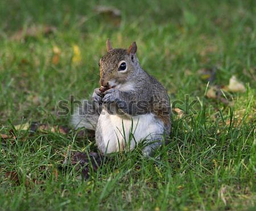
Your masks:
<path fill-rule="evenodd" d="M 98 122 L 98 117 L 101 113 L 101 105 L 93 101 L 82 101 L 82 105 L 76 108 L 71 117 L 71 124 L 75 129 L 85 127 L 85 129 L 95 130 Z"/>

